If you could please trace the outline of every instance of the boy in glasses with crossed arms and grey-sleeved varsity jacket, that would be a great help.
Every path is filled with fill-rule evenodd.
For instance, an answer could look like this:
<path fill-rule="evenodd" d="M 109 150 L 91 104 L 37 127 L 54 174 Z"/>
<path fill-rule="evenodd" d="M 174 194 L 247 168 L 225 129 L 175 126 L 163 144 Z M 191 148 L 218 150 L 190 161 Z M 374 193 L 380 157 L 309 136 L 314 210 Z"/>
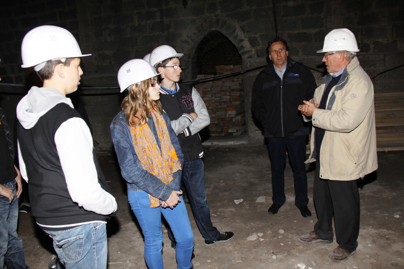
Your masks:
<path fill-rule="evenodd" d="M 151 52 L 150 64 L 156 67 L 158 73 L 164 72 L 161 74 L 160 102 L 170 117 L 184 154 L 182 180 L 196 225 L 205 238 L 205 244 L 211 245 L 227 241 L 234 234 L 231 231 L 219 232 L 210 220 L 210 209 L 206 203 L 203 147 L 198 133 L 209 125 L 210 117 L 196 89 L 188 84 L 177 83 L 182 71 L 179 58 L 183 55 L 168 45 L 162 45 Z M 173 238 L 170 239 L 175 247 Z"/>

